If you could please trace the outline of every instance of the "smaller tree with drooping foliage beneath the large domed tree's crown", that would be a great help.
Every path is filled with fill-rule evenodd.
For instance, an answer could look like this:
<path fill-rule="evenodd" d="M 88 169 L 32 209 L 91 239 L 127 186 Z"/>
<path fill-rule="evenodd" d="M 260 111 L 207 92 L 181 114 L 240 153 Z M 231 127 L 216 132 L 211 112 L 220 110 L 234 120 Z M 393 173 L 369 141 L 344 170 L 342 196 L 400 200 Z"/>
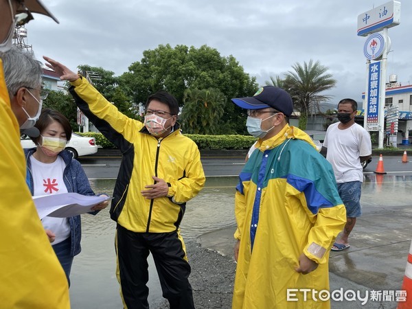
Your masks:
<path fill-rule="evenodd" d="M 222 132 L 226 98 L 217 89 L 186 89 L 181 114 L 183 132 L 217 135 Z"/>

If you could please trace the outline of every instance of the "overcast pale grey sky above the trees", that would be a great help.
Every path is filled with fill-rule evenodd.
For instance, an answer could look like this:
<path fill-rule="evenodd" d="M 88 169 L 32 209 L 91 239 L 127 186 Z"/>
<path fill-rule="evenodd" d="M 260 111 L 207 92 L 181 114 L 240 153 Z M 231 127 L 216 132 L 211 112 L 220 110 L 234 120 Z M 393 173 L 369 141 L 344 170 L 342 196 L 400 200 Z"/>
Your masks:
<path fill-rule="evenodd" d="M 387 1 L 373 0 L 43 0 L 59 19 L 36 14 L 27 41 L 73 71 L 91 65 L 121 75 L 146 49 L 169 43 L 233 55 L 264 85 L 296 62 L 319 60 L 338 81 L 328 93 L 361 101 L 366 38 L 356 35 L 359 14 Z M 389 29 L 387 76 L 412 82 L 412 1 L 401 1 L 401 23 Z M 409 34 L 408 34 L 409 32 Z M 251 93 L 253 95 L 253 93 Z"/>

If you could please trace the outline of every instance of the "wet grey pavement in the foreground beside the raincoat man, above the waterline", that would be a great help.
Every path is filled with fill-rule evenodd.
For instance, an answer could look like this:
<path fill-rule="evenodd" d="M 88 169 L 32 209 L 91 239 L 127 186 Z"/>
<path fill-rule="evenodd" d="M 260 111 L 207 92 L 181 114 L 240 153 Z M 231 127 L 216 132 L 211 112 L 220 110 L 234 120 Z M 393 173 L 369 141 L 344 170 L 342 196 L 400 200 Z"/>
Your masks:
<path fill-rule="evenodd" d="M 330 253 L 330 292 L 353 290 L 362 301 L 331 301 L 332 309 L 395 309 L 396 301 L 384 301 L 385 292 L 400 290 L 411 245 L 411 206 L 376 206 L 365 209 L 351 234 L 351 247 Z M 233 260 L 235 227 L 199 237 L 187 244 L 192 266 L 190 282 L 196 308 L 231 308 L 236 263 Z M 380 301 L 371 299 L 372 291 Z M 166 301 L 154 308 L 168 308 Z"/>

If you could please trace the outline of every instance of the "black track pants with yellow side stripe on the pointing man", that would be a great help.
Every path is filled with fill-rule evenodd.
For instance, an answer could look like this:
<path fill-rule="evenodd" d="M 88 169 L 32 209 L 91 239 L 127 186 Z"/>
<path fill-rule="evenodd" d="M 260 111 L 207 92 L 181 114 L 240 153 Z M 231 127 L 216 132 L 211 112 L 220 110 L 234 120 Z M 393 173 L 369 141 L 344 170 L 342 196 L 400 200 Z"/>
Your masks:
<path fill-rule="evenodd" d="M 117 225 L 116 235 L 118 279 L 126 308 L 149 308 L 146 286 L 149 251 L 170 309 L 194 308 L 192 286 L 187 279 L 190 265 L 179 233 L 135 233 Z"/>

